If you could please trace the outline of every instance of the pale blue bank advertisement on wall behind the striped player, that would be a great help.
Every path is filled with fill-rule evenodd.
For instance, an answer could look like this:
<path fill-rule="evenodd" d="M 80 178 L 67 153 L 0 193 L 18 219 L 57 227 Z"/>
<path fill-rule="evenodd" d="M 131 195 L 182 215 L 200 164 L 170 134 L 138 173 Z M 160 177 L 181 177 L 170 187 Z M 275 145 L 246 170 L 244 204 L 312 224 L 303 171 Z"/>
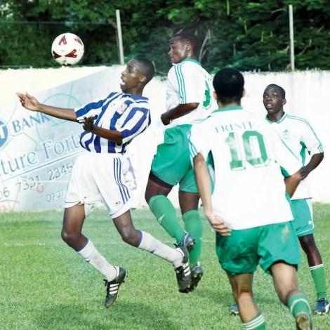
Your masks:
<path fill-rule="evenodd" d="M 40 103 L 81 107 L 118 90 L 119 70 L 103 70 L 34 95 Z M 0 211 L 38 211 L 64 205 L 81 124 L 31 112 L 18 101 L 0 106 Z M 136 190 L 132 160 L 127 184 Z"/>

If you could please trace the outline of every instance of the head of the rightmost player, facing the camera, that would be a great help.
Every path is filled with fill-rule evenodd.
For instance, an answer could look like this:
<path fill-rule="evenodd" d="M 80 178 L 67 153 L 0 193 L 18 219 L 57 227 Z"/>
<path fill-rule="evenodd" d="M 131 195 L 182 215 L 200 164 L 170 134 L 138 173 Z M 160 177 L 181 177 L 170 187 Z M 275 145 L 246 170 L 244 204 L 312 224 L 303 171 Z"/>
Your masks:
<path fill-rule="evenodd" d="M 284 113 L 283 106 L 286 104 L 284 88 L 276 84 L 270 84 L 263 92 L 263 105 L 269 115 Z"/>

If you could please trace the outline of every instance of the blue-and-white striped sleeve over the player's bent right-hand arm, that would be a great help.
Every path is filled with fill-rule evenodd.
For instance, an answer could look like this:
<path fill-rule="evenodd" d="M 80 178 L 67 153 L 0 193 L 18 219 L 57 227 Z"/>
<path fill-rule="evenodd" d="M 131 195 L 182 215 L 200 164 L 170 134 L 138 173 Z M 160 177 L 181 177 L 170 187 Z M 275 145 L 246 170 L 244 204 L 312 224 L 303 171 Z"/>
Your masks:
<path fill-rule="evenodd" d="M 150 125 L 150 110 L 146 107 L 133 107 L 119 128 L 123 138 L 123 144 L 133 140 Z"/>

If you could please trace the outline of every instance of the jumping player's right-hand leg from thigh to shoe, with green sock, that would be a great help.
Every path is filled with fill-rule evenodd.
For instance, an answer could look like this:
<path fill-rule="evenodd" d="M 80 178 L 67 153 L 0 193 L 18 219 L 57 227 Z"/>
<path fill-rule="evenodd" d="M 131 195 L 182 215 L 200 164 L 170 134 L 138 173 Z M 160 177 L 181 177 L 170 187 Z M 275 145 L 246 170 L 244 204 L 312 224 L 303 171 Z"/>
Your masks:
<path fill-rule="evenodd" d="M 203 276 L 203 268 L 200 264 L 202 255 L 203 222 L 198 212 L 199 194 L 179 191 L 179 204 L 185 223 L 185 231 L 194 237 L 195 242 L 189 253 L 189 263 L 192 272 L 192 286 L 194 290 Z"/>

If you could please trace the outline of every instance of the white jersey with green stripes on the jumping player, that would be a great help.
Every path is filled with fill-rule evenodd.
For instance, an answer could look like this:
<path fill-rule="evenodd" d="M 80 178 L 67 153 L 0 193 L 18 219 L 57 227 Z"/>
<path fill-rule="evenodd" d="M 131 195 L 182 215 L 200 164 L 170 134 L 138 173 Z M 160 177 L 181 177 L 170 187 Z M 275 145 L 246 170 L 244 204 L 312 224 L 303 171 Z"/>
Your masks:
<path fill-rule="evenodd" d="M 199 103 L 197 109 L 189 114 L 173 119 L 170 126 L 193 124 L 211 114 L 216 109 L 213 98 L 211 75 L 197 60 L 186 58 L 173 65 L 167 75 L 166 111 L 179 104 Z"/>

